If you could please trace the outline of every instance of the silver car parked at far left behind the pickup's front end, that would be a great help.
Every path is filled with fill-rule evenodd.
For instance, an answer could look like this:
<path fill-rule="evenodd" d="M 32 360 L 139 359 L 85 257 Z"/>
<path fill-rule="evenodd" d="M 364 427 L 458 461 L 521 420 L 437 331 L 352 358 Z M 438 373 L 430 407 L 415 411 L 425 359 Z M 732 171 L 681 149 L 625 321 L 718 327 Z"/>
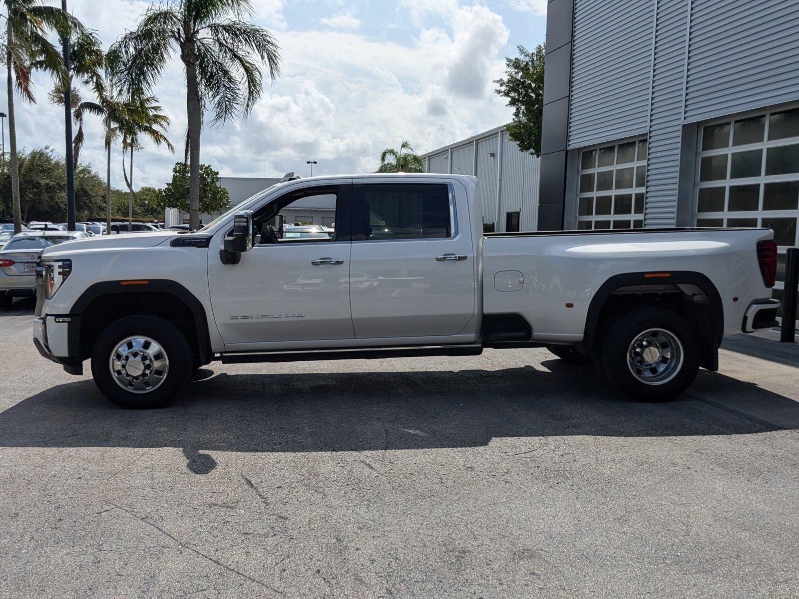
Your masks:
<path fill-rule="evenodd" d="M 90 236 L 83 231 L 23 231 L 12 237 L 0 251 L 0 307 L 9 307 L 15 296 L 36 293 L 36 261 L 44 248 Z"/>

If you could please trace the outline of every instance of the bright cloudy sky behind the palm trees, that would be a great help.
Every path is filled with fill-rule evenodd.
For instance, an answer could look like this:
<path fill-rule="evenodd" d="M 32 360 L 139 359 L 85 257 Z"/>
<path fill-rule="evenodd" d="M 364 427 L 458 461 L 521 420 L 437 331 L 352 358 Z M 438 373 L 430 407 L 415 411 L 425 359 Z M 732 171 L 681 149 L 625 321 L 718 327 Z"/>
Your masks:
<path fill-rule="evenodd" d="M 51 2 L 52 3 L 52 0 Z M 145 0 L 69 0 L 106 46 L 133 29 Z M 223 176 L 275 177 L 376 169 L 385 147 L 407 139 L 419 153 L 506 122 L 510 109 L 492 80 L 515 46 L 542 43 L 546 0 L 252 0 L 260 26 L 277 38 L 282 75 L 246 121 L 206 126 L 201 160 Z M 48 105 L 40 75 L 38 105 L 19 106 L 18 144 L 64 144 L 63 109 Z M 185 83 L 175 60 L 155 89 L 172 119 L 178 155 L 145 145 L 134 184 L 160 187 L 185 138 Z M 5 102 L 3 101 L 3 104 Z M 101 123 L 90 118 L 81 153 L 105 173 Z M 137 164 L 136 164 L 137 163 Z M 112 155 L 122 187 L 121 153 Z"/>

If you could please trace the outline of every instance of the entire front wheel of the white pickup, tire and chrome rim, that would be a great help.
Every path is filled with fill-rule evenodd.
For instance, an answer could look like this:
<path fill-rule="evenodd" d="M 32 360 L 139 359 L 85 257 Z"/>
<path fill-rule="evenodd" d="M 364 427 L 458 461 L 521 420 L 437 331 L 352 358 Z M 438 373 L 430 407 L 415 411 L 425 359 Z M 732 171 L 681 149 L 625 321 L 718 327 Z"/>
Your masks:
<path fill-rule="evenodd" d="M 192 349 L 185 335 L 157 316 L 126 316 L 105 327 L 94 343 L 94 383 L 120 407 L 164 407 L 191 374 Z"/>

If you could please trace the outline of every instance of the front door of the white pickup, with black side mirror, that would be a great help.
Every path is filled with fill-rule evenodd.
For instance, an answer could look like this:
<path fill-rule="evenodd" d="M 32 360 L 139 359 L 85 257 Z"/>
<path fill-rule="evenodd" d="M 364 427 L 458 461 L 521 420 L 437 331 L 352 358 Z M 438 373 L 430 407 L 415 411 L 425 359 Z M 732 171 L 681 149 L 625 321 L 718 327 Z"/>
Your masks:
<path fill-rule="evenodd" d="M 218 252 L 209 252 L 213 315 L 228 351 L 355 337 L 349 300 L 351 195 L 349 183 L 288 190 L 256 210 L 259 243 L 241 254 L 239 264 L 222 264 Z M 277 214 L 290 216 L 300 208 L 334 218 L 335 229 L 295 227 L 292 220 L 282 231 L 270 226 Z"/>

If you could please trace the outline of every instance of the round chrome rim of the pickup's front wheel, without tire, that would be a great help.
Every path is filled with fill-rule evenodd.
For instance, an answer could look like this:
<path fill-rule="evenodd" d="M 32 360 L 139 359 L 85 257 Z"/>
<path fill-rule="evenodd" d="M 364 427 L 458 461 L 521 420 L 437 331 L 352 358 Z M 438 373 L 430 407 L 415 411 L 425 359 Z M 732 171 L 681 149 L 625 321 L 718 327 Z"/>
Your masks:
<path fill-rule="evenodd" d="M 122 339 L 111 352 L 111 376 L 131 393 L 149 393 L 164 383 L 169 373 L 166 351 L 154 339 L 135 335 Z"/>

